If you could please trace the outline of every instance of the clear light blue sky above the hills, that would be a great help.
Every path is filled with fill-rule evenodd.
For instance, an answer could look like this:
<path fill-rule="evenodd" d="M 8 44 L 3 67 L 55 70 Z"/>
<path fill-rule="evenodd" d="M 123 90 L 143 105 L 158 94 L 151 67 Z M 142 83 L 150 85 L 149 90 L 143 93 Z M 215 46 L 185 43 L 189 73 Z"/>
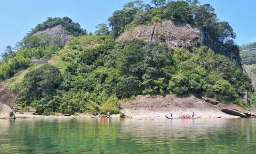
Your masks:
<path fill-rule="evenodd" d="M 115 10 L 132 0 L 0 0 L 0 53 L 14 46 L 31 28 L 47 17 L 68 16 L 87 32 L 108 23 Z M 151 0 L 143 0 L 149 4 Z M 220 21 L 229 22 L 237 34 L 238 45 L 256 41 L 256 0 L 199 0 L 215 8 Z"/>

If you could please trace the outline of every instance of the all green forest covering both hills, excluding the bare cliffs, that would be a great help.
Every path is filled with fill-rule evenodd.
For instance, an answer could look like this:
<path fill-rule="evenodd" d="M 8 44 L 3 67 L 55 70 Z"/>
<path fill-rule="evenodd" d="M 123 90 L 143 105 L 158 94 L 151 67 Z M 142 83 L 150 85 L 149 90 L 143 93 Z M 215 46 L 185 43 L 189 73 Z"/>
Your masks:
<path fill-rule="evenodd" d="M 172 20 L 205 30 L 226 49 L 238 49 L 231 26 L 218 22 L 210 4 L 152 0 L 152 5 L 140 0 L 125 4 L 109 18 L 112 30 L 99 24 L 95 34 L 82 34 L 76 31 L 79 24 L 71 24 L 66 30 L 74 33 L 64 46 L 32 35 L 56 26 L 55 21 L 60 20 L 48 18 L 18 42 L 16 49 L 6 48 L 0 65 L 0 87 L 11 89 L 16 105 L 31 105 L 43 115 L 118 113 L 121 101 L 140 94 L 206 96 L 248 106 L 243 100 L 245 93 L 252 91 L 248 76 L 207 46 L 188 50 L 170 48 L 164 41 L 116 41 L 130 28 Z M 30 63 L 31 59 L 46 64 Z"/>

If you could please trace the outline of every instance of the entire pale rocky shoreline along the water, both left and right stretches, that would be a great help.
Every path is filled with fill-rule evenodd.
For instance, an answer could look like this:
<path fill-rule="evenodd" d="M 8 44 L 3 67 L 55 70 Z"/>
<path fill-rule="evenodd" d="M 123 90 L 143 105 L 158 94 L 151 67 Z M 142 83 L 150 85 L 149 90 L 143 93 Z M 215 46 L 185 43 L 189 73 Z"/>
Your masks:
<path fill-rule="evenodd" d="M 91 118 L 87 113 L 76 113 L 73 115 L 35 115 L 36 110 L 28 107 L 28 111 L 17 111 L 17 107 L 12 109 L 0 103 L 0 118 Z M 180 115 L 190 115 L 195 113 L 195 118 L 240 118 L 256 117 L 255 109 L 245 110 L 234 104 L 223 104 L 215 99 L 202 97 L 198 99 L 190 96 L 186 98 L 174 95 L 138 95 L 136 99 L 122 102 L 120 111 L 127 118 L 166 118 L 172 113 L 173 118 Z M 120 118 L 120 115 L 111 115 L 112 118 Z"/>

